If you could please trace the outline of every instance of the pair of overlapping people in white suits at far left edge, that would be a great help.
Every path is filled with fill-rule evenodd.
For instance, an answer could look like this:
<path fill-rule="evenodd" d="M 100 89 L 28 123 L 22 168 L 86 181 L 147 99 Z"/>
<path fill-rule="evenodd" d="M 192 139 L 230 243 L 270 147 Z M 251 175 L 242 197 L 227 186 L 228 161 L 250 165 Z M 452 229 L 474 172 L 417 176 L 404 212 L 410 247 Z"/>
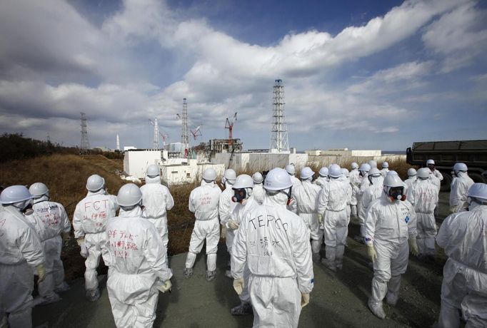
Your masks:
<path fill-rule="evenodd" d="M 0 327 L 32 327 L 32 307 L 57 302 L 69 289 L 61 247 L 71 222 L 44 183 L 5 188 L 0 203 Z"/>

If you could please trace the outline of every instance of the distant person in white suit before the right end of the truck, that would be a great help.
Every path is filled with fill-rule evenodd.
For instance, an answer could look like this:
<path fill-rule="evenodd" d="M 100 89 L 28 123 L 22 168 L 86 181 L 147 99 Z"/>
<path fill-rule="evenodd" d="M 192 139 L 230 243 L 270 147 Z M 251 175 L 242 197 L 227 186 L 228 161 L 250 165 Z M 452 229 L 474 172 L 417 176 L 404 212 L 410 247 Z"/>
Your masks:
<path fill-rule="evenodd" d="M 468 188 L 473 185 L 473 180 L 467 174 L 468 168 L 465 163 L 453 165 L 450 188 L 450 212 L 455 213 L 466 207 Z"/>

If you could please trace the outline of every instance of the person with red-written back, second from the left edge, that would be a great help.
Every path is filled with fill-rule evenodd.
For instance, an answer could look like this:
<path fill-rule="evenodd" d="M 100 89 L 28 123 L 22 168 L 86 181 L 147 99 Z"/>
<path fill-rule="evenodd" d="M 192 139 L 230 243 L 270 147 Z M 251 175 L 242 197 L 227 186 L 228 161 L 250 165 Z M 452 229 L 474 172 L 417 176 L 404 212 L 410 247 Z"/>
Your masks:
<path fill-rule="evenodd" d="M 29 187 L 29 193 L 34 196 L 34 213 L 26 215 L 26 220 L 39 235 L 46 257 L 46 279 L 39 283 L 39 297 L 34 299 L 34 304 L 49 304 L 61 299 L 57 292 L 69 289 L 64 282 L 61 249 L 63 240 L 69 238 L 71 222 L 63 205 L 49 201 L 49 190 L 44 183 L 33 183 Z"/>

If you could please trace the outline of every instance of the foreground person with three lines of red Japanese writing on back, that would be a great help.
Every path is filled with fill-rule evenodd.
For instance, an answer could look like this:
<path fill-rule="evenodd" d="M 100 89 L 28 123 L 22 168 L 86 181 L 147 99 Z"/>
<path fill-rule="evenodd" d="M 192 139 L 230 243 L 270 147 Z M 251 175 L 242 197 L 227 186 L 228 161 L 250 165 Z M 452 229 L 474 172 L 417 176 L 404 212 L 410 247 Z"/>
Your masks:
<path fill-rule="evenodd" d="M 106 225 L 103 258 L 109 267 L 106 289 L 116 327 L 152 327 L 159 291 L 171 289 L 167 250 L 154 224 L 142 215 L 141 190 L 123 185 L 117 203 L 123 211 Z"/>

